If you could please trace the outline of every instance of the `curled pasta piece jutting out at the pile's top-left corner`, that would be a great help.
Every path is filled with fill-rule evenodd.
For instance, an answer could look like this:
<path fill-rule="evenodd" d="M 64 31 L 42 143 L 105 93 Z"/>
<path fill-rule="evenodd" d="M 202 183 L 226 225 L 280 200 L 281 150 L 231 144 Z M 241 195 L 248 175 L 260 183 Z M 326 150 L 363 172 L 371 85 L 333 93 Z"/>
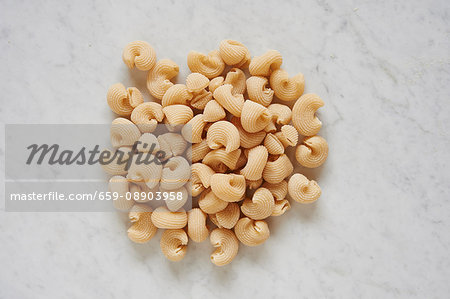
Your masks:
<path fill-rule="evenodd" d="M 156 52 L 147 42 L 138 40 L 125 46 L 122 59 L 130 69 L 136 66 L 138 70 L 148 71 L 155 66 Z"/>

